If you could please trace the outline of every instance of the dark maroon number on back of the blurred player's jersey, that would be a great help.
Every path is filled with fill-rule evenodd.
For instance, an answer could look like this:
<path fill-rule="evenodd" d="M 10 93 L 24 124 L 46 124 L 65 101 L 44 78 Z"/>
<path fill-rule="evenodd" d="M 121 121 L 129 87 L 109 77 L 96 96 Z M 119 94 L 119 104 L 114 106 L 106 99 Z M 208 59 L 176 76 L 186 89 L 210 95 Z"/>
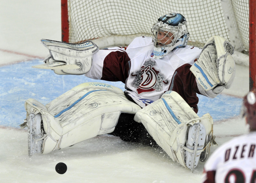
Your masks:
<path fill-rule="evenodd" d="M 225 183 L 230 183 L 230 177 L 233 176 L 235 183 L 243 183 L 245 182 L 245 175 L 242 170 L 239 169 L 232 169 L 228 172 L 228 174 L 225 177 Z M 251 176 L 251 183 L 254 183 L 256 181 L 256 170 L 252 171 Z"/>

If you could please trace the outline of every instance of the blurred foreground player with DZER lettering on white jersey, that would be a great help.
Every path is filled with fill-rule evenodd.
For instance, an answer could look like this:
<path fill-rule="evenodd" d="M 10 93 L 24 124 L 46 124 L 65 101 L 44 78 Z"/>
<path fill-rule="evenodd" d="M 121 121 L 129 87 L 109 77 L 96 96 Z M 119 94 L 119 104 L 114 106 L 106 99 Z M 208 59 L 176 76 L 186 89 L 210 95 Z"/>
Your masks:
<path fill-rule="evenodd" d="M 221 145 L 204 165 L 204 183 L 256 181 L 256 89 L 242 104 L 249 133 Z"/>

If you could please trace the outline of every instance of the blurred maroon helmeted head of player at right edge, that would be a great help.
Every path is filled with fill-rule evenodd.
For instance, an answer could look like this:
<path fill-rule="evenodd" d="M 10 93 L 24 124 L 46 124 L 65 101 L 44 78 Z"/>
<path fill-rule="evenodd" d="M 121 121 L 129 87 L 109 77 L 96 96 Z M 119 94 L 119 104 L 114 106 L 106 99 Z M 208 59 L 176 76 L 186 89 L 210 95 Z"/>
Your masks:
<path fill-rule="evenodd" d="M 250 131 L 256 131 L 256 89 L 245 95 L 241 113 L 249 124 Z"/>

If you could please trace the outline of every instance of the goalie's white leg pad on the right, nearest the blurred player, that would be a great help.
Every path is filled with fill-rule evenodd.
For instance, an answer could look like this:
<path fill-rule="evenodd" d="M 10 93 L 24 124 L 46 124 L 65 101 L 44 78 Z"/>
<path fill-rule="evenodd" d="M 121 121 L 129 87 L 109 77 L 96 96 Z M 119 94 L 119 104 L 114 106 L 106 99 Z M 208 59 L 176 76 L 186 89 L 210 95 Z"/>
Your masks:
<path fill-rule="evenodd" d="M 209 114 L 199 117 L 176 92 L 166 92 L 161 99 L 139 110 L 135 114 L 134 120 L 145 126 L 148 133 L 173 161 L 191 170 L 193 170 L 192 167 L 187 166 L 185 152 L 189 151 L 194 153 L 196 157 L 198 155 L 200 157 L 204 150 L 204 144 L 208 145 L 208 142 L 205 143 L 205 135 L 212 136 L 213 132 L 212 117 Z M 190 140 L 188 140 L 188 126 L 191 126 L 192 130 L 197 126 L 202 126 L 201 130 L 205 129 L 204 138 L 199 139 L 200 147 L 198 149 L 195 149 L 193 144 L 186 144 L 187 141 L 190 143 Z M 200 131 L 200 127 L 198 131 Z M 196 139 L 191 133 L 189 138 Z M 195 166 L 193 168 L 198 163 L 197 159 L 194 161 Z"/>

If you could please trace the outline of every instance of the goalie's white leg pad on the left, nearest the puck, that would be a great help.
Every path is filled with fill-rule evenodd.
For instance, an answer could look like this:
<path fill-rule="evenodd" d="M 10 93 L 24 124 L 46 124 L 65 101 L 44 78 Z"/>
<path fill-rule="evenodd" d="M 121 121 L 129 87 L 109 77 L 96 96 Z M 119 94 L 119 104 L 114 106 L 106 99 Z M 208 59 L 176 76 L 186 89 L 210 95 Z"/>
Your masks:
<path fill-rule="evenodd" d="M 28 99 L 25 109 L 28 121 L 31 114 L 38 114 L 30 129 L 38 129 L 41 121 L 43 123 L 42 149 L 31 152 L 32 155 L 37 152 L 47 154 L 110 133 L 114 131 L 121 112 L 135 114 L 141 108 L 129 101 L 119 88 L 102 83 L 84 83 L 46 106 L 35 99 Z M 29 133 L 29 138 L 33 133 Z"/>

